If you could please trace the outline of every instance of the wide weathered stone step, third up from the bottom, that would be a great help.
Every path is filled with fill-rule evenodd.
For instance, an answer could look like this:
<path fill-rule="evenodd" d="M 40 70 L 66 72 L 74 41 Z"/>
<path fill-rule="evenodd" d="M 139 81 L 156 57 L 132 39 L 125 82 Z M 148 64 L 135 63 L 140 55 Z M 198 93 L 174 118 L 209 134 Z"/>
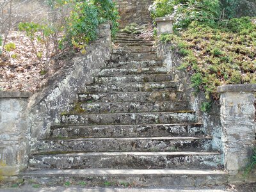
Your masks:
<path fill-rule="evenodd" d="M 31 154 L 70 152 L 204 152 L 211 150 L 209 137 L 78 138 L 47 139 L 36 143 Z"/>

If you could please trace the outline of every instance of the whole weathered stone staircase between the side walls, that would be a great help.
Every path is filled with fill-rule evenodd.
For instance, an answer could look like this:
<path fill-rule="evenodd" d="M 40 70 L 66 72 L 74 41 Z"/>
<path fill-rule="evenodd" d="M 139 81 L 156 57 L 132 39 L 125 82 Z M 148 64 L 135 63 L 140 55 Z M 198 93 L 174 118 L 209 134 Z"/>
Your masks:
<path fill-rule="evenodd" d="M 153 42 L 118 33 L 111 60 L 38 142 L 22 176 L 47 185 L 223 184 L 221 155 L 185 98 Z"/>

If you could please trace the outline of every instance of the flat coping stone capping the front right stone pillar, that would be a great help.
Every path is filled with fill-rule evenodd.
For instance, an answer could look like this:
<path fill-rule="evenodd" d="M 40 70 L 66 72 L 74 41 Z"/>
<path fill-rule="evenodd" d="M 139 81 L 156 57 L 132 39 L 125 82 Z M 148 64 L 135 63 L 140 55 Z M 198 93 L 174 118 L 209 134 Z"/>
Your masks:
<path fill-rule="evenodd" d="M 225 92 L 256 92 L 256 84 L 225 84 L 218 86 L 219 93 Z"/>

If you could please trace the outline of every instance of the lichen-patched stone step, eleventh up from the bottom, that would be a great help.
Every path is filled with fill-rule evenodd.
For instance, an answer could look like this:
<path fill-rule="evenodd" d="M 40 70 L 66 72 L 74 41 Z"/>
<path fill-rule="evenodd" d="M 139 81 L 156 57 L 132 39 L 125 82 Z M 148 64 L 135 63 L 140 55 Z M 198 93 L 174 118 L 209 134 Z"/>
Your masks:
<path fill-rule="evenodd" d="M 144 61 L 106 61 L 107 68 L 148 68 L 161 67 L 163 62 L 160 60 Z"/>

